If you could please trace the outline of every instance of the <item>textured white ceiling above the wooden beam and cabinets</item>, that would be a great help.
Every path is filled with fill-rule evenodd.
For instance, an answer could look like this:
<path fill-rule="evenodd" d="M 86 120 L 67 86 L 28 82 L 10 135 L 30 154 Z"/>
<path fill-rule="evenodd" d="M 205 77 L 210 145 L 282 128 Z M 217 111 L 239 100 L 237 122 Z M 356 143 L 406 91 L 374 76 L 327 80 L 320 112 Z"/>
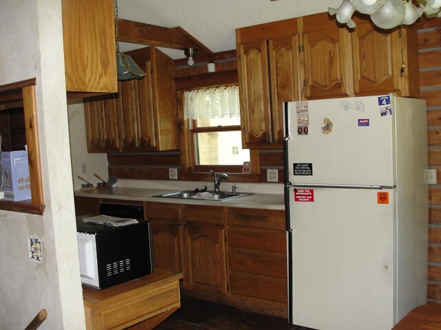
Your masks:
<path fill-rule="evenodd" d="M 181 26 L 213 52 L 236 49 L 236 28 L 338 8 L 342 0 L 119 0 L 119 18 L 159 25 Z M 145 45 L 121 43 L 121 51 Z M 183 58 L 179 50 L 164 50 Z"/>

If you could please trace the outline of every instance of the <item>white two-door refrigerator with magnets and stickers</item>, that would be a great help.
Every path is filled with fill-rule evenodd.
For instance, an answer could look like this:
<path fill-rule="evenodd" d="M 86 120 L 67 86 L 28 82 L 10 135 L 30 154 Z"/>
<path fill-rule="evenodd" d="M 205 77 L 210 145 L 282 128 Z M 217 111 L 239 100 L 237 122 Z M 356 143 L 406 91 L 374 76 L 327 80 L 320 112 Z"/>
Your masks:
<path fill-rule="evenodd" d="M 289 322 L 391 329 L 427 297 L 426 103 L 284 107 Z"/>

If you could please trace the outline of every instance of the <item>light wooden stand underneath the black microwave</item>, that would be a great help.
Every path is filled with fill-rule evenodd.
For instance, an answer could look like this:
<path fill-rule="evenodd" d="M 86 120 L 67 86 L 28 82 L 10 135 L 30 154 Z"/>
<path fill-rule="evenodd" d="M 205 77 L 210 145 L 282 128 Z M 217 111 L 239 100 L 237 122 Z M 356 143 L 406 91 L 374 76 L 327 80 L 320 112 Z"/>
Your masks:
<path fill-rule="evenodd" d="M 181 307 L 181 278 L 156 269 L 104 290 L 83 286 L 86 329 L 153 329 Z"/>

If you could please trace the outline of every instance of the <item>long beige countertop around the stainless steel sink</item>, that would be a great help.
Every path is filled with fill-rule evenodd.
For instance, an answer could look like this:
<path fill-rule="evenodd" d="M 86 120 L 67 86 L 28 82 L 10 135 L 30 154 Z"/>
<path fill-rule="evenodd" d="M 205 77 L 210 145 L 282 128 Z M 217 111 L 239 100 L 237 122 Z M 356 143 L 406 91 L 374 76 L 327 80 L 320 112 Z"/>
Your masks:
<path fill-rule="evenodd" d="M 97 187 L 75 190 L 75 196 L 94 197 L 106 199 L 121 199 L 127 201 L 156 201 L 158 203 L 181 203 L 207 206 L 228 206 L 232 208 L 263 208 L 269 210 L 285 210 L 283 195 L 279 194 L 253 194 L 239 198 L 214 201 L 209 199 L 178 199 L 154 197 L 178 190 L 126 188 L 126 187 Z"/>

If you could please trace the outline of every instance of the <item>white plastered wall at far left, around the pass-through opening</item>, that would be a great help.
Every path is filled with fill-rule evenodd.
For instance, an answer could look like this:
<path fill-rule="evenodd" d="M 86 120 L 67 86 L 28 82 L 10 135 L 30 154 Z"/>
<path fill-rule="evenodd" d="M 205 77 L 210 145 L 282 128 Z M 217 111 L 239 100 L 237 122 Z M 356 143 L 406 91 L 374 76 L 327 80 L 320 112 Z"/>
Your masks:
<path fill-rule="evenodd" d="M 37 78 L 45 212 L 0 210 L 0 329 L 85 329 L 70 169 L 61 1 L 0 0 L 0 85 Z M 28 237 L 43 259 L 28 256 Z"/>

